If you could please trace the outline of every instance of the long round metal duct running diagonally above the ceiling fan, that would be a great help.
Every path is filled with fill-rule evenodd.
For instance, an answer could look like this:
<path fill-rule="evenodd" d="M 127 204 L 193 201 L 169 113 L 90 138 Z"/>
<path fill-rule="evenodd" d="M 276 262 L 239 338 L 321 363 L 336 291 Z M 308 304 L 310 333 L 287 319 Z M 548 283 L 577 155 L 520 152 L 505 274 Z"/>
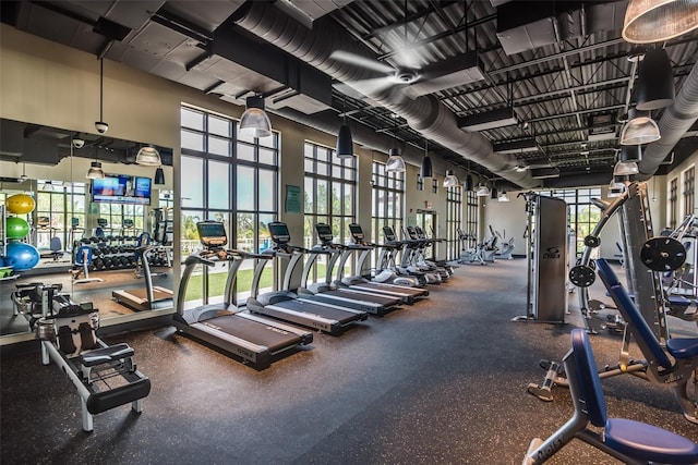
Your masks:
<path fill-rule="evenodd" d="M 362 89 L 362 81 L 382 75 L 332 60 L 329 56 L 334 50 L 344 50 L 369 59 L 375 59 L 375 56 L 368 47 L 354 41 L 349 34 L 336 25 L 326 24 L 332 21 L 329 17 L 318 20 L 313 29 L 308 29 L 272 3 L 246 2 L 236 11 L 232 20 L 245 30 L 356 88 L 380 106 L 405 118 L 410 127 L 454 150 L 465 159 L 481 164 L 521 188 L 539 186 L 539 182 L 533 180 L 529 172 L 514 170 L 518 162 L 516 156 L 495 154 L 492 150 L 492 144 L 481 134 L 459 129 L 456 115 L 435 97 L 423 96 L 410 99 L 397 85 L 382 93 Z"/>

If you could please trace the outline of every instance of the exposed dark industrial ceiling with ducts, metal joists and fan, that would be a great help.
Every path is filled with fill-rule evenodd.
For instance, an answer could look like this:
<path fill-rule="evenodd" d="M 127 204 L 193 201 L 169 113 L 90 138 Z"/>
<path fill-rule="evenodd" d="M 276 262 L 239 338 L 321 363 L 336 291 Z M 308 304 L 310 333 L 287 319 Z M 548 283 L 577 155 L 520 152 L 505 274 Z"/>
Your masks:
<path fill-rule="evenodd" d="M 447 164 L 529 188 L 610 181 L 637 75 L 631 58 L 642 51 L 621 38 L 626 7 L 3 1 L 0 14 L 17 29 L 237 105 L 262 94 L 269 111 L 323 131 L 335 132 L 345 113 L 354 142 L 386 152 L 402 145 L 408 161 L 419 161 L 428 138 Z M 698 32 L 663 46 L 678 95 L 696 66 Z M 501 122 L 484 123 L 494 111 Z M 663 113 L 652 114 L 660 127 Z M 660 172 L 698 149 L 697 133 L 694 124 L 676 136 Z"/>

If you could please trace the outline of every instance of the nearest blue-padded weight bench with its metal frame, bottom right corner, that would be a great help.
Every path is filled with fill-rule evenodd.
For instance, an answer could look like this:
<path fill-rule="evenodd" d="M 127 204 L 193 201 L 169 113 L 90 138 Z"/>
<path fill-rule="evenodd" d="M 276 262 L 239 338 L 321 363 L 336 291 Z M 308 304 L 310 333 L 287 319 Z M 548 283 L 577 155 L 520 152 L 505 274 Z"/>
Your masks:
<path fill-rule="evenodd" d="M 607 418 L 601 379 L 582 329 L 571 331 L 571 350 L 564 358 L 575 414 L 545 441 L 531 441 L 524 465 L 542 464 L 573 439 L 610 454 L 626 464 L 698 463 L 698 445 L 683 436 L 625 418 Z M 602 428 L 597 432 L 589 424 Z"/>

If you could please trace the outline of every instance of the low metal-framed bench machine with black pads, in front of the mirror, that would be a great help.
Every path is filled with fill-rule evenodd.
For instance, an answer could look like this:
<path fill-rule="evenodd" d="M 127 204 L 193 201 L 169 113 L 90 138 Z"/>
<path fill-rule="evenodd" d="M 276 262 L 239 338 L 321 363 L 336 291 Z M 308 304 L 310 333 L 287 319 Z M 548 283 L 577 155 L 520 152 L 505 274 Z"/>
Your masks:
<path fill-rule="evenodd" d="M 141 413 L 151 380 L 141 374 L 128 344 L 107 345 L 96 335 L 99 318 L 63 297 L 59 311 L 37 321 L 41 363 L 52 359 L 73 382 L 80 395 L 83 430 L 94 429 L 93 415 L 131 403 Z"/>

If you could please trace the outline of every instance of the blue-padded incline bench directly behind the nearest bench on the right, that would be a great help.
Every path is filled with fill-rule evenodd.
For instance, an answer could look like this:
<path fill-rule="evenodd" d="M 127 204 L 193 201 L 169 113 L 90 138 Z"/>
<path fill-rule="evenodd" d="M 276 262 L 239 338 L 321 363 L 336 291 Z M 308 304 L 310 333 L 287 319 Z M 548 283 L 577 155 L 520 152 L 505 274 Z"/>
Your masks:
<path fill-rule="evenodd" d="M 604 259 L 597 260 L 597 271 L 626 326 L 618 364 L 615 367 L 606 367 L 599 374 L 599 377 L 603 379 L 630 374 L 661 386 L 669 386 L 674 391 L 684 417 L 688 421 L 698 424 L 696 393 L 694 392 L 693 400 L 688 396 L 688 383 L 691 382 L 691 379 L 695 382 L 698 370 L 698 338 L 669 339 L 666 351 L 664 351 L 638 307 Z M 630 338 L 640 347 L 645 359 L 630 358 Z M 543 383 L 529 384 L 528 392 L 543 401 L 552 401 L 552 388 L 555 384 L 569 387 L 569 371 L 562 369 L 561 364 L 556 362 L 542 363 L 541 365 L 544 364 L 547 365 L 547 374 Z"/>

